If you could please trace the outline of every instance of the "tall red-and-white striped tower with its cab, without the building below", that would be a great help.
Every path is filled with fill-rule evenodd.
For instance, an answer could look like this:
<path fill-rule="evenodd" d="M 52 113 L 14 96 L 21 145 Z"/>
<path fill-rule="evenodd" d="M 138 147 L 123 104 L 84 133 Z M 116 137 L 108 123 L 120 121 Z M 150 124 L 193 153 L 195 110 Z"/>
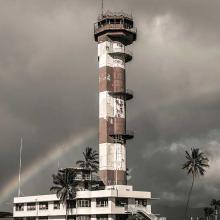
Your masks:
<path fill-rule="evenodd" d="M 125 13 L 102 13 L 94 26 L 99 62 L 99 170 L 105 185 L 126 185 L 126 63 L 127 45 L 136 40 L 133 18 Z"/>

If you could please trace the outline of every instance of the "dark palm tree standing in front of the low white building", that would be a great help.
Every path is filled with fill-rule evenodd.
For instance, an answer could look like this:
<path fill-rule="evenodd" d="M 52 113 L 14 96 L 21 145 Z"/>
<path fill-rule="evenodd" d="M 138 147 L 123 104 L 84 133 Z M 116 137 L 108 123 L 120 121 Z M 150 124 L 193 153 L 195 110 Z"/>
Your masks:
<path fill-rule="evenodd" d="M 75 199 L 77 183 L 75 181 L 76 171 L 71 168 L 58 170 L 57 174 L 53 174 L 53 184 L 50 191 L 57 194 L 57 198 L 66 207 L 66 219 L 69 200 Z"/>

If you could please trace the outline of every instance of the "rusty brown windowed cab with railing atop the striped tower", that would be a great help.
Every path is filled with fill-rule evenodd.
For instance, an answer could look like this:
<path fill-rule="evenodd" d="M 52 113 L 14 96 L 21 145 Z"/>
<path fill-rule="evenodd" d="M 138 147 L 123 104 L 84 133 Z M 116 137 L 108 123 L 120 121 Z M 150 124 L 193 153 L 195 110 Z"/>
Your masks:
<path fill-rule="evenodd" d="M 94 37 L 100 41 L 100 37 L 108 36 L 112 40 L 119 40 L 125 45 L 136 40 L 137 29 L 134 27 L 132 15 L 124 12 L 106 13 L 98 17 L 98 22 L 94 24 Z"/>

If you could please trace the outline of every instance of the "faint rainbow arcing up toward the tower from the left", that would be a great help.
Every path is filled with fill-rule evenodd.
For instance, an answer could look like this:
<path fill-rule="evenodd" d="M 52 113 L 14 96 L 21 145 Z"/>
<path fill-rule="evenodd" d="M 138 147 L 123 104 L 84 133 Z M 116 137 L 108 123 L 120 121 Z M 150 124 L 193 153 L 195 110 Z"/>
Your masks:
<path fill-rule="evenodd" d="M 71 149 L 85 144 L 89 139 L 96 135 L 96 129 L 89 128 L 79 134 L 72 135 L 65 142 L 55 145 L 51 151 L 41 155 L 28 168 L 22 171 L 22 184 L 28 182 L 33 176 L 37 175 L 42 169 L 47 167 L 53 161 L 56 161 L 62 155 L 68 153 Z M 3 203 L 18 187 L 18 176 L 10 179 L 2 189 L 0 189 L 0 202 Z"/>

